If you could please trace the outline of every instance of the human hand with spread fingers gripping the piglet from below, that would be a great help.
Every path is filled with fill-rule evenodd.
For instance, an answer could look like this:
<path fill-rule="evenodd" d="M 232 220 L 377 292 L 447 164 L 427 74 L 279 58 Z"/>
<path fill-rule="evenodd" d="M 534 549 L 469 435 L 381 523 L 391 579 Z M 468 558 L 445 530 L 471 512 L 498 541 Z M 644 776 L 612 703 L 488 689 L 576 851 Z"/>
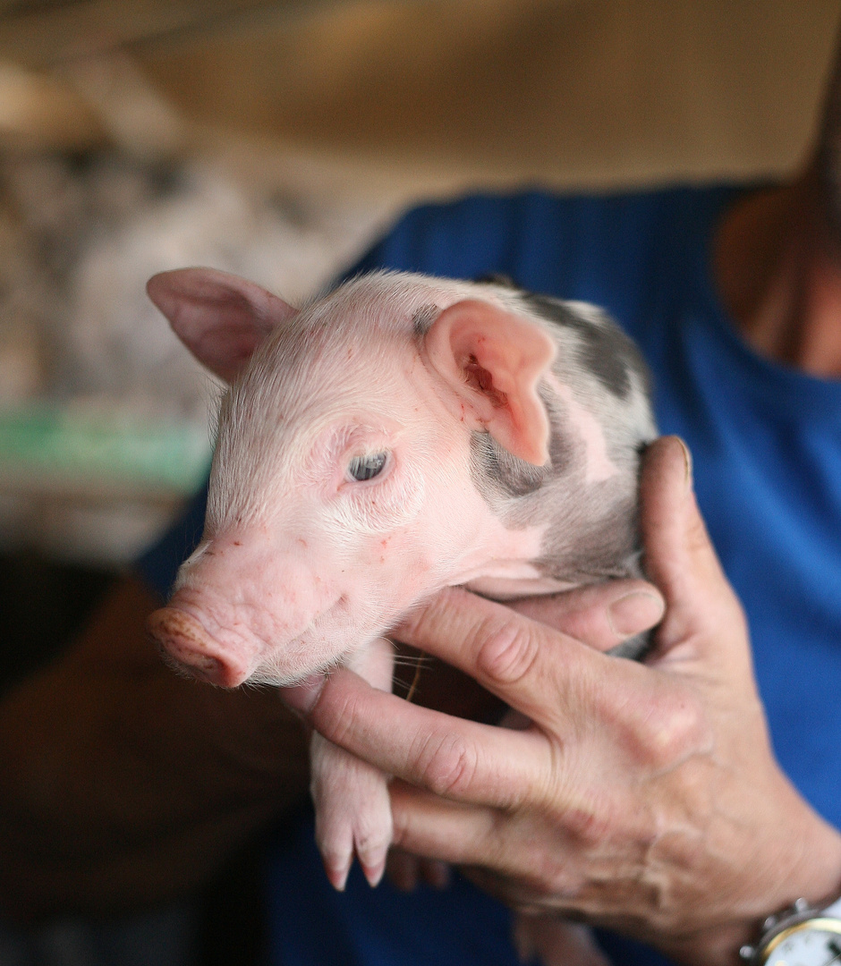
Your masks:
<path fill-rule="evenodd" d="M 597 588 L 584 642 L 450 589 L 398 637 L 531 725 L 453 719 L 347 671 L 305 703 L 331 741 L 403 780 L 391 790 L 400 847 L 467 867 L 521 910 L 604 924 L 685 963 L 735 963 L 769 912 L 837 893 L 841 837 L 773 758 L 739 602 L 687 466 L 668 438 L 645 461 L 647 571 L 667 604 L 646 664 L 586 646 L 605 624 Z"/>

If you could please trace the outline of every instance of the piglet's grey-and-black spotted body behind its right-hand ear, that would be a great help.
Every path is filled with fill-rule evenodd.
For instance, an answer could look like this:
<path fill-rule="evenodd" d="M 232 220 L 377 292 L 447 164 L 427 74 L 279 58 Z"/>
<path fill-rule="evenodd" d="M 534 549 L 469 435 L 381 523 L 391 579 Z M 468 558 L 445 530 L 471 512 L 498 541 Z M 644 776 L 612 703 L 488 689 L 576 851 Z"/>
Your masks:
<path fill-rule="evenodd" d="M 587 445 L 580 429 L 565 399 L 542 384 L 538 391 L 549 417 L 549 465 L 534 467 L 477 434 L 471 449 L 478 489 L 507 526 L 548 525 L 541 554 L 532 561 L 544 576 L 570 583 L 640 576 L 640 457 L 654 434 L 647 366 L 623 330 L 594 306 L 523 290 L 516 297 L 521 312 L 550 324 L 559 350 L 554 377 L 598 420 L 618 472 L 588 481 Z"/>

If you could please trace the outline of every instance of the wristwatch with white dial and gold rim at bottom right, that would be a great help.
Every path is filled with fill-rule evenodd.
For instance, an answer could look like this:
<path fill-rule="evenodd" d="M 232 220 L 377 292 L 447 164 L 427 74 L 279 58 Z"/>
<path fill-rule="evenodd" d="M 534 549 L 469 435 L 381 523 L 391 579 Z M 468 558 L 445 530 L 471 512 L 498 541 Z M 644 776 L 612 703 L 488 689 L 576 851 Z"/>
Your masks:
<path fill-rule="evenodd" d="M 823 909 L 805 899 L 768 916 L 756 946 L 742 946 L 750 966 L 841 966 L 841 898 Z"/>

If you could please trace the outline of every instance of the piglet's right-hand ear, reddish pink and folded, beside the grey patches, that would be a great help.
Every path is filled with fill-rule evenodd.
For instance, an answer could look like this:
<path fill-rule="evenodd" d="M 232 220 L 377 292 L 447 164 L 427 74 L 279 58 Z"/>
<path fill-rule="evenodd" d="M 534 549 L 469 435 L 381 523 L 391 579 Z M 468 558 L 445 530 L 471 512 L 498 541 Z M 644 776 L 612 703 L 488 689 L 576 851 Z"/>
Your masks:
<path fill-rule="evenodd" d="M 542 328 L 488 302 L 465 299 L 438 316 L 424 346 L 474 428 L 486 429 L 528 463 L 546 463 L 549 419 L 537 383 L 555 344 Z"/>

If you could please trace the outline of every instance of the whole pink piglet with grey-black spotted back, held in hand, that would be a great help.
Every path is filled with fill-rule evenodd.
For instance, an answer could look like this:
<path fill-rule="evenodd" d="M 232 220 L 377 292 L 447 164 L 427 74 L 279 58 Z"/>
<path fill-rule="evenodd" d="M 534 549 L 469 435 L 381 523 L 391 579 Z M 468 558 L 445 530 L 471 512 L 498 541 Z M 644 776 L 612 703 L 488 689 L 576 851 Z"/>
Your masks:
<path fill-rule="evenodd" d="M 301 309 L 208 269 L 148 291 L 229 384 L 202 541 L 149 623 L 177 668 L 282 687 L 345 664 L 391 689 L 385 635 L 442 587 L 640 575 L 647 375 L 597 308 L 396 272 Z M 317 734 L 311 753 L 328 875 L 342 888 L 356 854 L 374 884 L 387 779 Z"/>

